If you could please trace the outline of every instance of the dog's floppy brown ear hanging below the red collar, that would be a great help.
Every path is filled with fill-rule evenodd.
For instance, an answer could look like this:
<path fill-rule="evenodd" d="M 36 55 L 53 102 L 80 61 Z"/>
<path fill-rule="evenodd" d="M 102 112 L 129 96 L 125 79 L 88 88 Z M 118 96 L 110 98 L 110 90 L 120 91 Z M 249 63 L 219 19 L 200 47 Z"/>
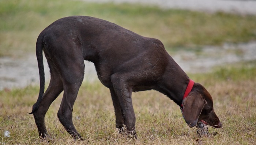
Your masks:
<path fill-rule="evenodd" d="M 202 95 L 197 92 L 189 93 L 188 97 L 182 101 L 183 117 L 190 127 L 196 125 L 198 117 L 206 103 Z"/>

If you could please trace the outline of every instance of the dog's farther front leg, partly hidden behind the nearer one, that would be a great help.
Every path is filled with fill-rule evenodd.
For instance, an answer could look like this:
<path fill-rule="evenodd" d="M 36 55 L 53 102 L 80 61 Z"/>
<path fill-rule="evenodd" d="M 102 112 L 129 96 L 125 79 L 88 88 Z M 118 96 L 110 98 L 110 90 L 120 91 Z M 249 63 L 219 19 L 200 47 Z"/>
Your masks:
<path fill-rule="evenodd" d="M 118 97 L 116 96 L 116 93 L 115 93 L 114 89 L 110 89 L 110 93 L 111 93 L 111 97 L 112 97 L 112 101 L 113 101 L 113 105 L 114 105 L 114 110 L 115 110 L 115 115 L 116 115 L 116 128 L 121 133 L 123 131 L 123 127 L 124 127 L 123 126 L 124 120 L 123 120 L 123 117 L 122 117 L 122 112 L 121 112 L 119 100 L 118 100 Z"/>

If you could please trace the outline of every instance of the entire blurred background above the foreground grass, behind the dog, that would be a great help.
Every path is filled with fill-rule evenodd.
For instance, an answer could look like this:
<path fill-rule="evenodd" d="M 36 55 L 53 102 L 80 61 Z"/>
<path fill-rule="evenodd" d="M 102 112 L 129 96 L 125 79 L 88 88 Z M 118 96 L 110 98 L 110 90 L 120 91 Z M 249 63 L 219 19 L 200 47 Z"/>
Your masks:
<path fill-rule="evenodd" d="M 1 0 L 0 90 L 39 81 L 39 33 L 65 16 L 86 15 L 157 38 L 187 73 L 256 64 L 256 1 L 252 0 Z M 45 60 L 45 59 L 44 59 Z M 87 81 L 97 81 L 86 62 Z M 46 80 L 49 71 L 45 63 Z"/>

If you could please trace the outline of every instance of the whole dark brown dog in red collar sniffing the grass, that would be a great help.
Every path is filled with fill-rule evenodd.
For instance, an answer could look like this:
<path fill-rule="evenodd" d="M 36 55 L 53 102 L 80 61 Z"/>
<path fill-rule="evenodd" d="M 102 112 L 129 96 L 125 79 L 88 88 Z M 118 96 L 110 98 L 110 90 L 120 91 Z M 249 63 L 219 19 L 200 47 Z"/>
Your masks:
<path fill-rule="evenodd" d="M 45 92 L 43 51 L 51 76 Z M 222 127 L 211 95 L 189 79 L 158 39 L 140 36 L 102 19 L 70 16 L 54 21 L 39 34 L 36 56 L 40 90 L 30 114 L 34 115 L 41 138 L 47 133 L 45 114 L 62 91 L 57 116 L 75 140 L 81 138 L 72 122 L 72 111 L 84 77 L 84 60 L 94 63 L 99 80 L 109 88 L 120 132 L 137 138 L 131 95 L 145 90 L 156 90 L 172 99 L 181 107 L 190 127 L 198 121 Z"/>

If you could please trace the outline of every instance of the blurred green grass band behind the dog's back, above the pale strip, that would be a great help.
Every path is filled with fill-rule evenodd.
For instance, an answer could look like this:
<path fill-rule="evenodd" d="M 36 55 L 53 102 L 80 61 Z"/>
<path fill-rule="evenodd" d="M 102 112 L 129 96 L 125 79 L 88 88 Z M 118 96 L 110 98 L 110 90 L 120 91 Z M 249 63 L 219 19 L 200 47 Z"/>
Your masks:
<path fill-rule="evenodd" d="M 0 56 L 34 53 L 39 33 L 53 21 L 71 15 L 111 21 L 140 35 L 158 38 L 169 50 L 256 40 L 256 16 L 252 15 L 75 0 L 1 0 Z"/>

